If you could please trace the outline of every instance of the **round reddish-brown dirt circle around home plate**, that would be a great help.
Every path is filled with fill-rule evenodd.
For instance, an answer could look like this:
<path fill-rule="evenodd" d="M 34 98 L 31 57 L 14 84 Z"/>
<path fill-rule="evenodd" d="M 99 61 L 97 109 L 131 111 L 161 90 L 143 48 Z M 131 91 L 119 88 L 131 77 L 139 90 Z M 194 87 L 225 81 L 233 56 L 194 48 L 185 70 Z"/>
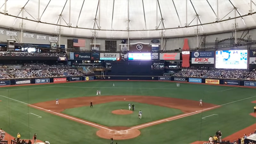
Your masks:
<path fill-rule="evenodd" d="M 104 138 L 104 139 L 110 139 L 113 138 L 114 140 L 126 140 L 126 139 L 132 139 L 140 135 L 140 131 L 137 129 L 131 129 L 129 130 L 129 127 L 109 127 L 109 129 L 100 129 L 96 132 L 97 136 Z"/>

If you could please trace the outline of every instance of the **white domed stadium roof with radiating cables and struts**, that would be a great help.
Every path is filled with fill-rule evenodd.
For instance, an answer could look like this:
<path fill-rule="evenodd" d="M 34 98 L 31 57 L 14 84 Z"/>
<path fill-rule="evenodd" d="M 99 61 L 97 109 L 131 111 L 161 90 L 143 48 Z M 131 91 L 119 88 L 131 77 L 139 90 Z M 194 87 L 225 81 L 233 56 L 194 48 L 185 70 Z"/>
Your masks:
<path fill-rule="evenodd" d="M 255 0 L 0 0 L 0 26 L 20 29 L 24 18 L 25 30 L 51 34 L 172 37 L 196 35 L 196 25 L 199 34 L 232 30 L 235 17 L 237 28 L 254 27 L 255 12 Z"/>

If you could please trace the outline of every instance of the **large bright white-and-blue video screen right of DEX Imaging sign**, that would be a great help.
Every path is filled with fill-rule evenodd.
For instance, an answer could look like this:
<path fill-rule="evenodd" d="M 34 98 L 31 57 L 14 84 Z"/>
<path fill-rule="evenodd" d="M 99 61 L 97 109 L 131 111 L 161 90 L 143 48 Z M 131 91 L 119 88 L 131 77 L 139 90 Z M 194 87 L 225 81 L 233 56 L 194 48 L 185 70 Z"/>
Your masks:
<path fill-rule="evenodd" d="M 216 51 L 215 68 L 246 69 L 247 50 Z"/>

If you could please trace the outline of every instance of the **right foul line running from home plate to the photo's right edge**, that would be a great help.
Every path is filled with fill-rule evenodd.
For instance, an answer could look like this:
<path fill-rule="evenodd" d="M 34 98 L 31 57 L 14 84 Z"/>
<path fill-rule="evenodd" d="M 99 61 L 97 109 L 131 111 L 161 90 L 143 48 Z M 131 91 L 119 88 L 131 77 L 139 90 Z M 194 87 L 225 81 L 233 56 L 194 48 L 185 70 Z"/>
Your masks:
<path fill-rule="evenodd" d="M 254 97 L 256 97 L 256 96 L 252 96 L 252 97 L 249 97 L 249 98 L 244 98 L 244 99 L 241 99 L 241 100 L 246 100 L 246 99 L 250 99 L 250 98 L 254 98 Z M 228 102 L 228 103 L 225 103 L 225 104 L 222 104 L 222 105 L 219 105 L 219 106 L 215 106 L 215 107 L 212 107 L 212 108 L 224 106 L 224 105 L 227 105 L 227 104 L 230 104 L 230 103 L 234 103 L 234 102 L 237 102 L 237 101 L 241 101 L 241 100 L 236 100 L 236 101 Z M 199 110 L 199 111 L 191 112 L 191 113 L 188 113 L 188 114 L 184 114 L 184 115 L 180 115 L 180 116 L 175 116 L 175 117 L 171 117 L 171 118 L 162 119 L 162 120 L 159 120 L 159 121 L 156 121 L 156 122 L 153 122 L 153 123 L 148 123 L 148 124 L 143 124 L 143 125 L 139 125 L 139 126 L 136 126 L 136 127 L 132 127 L 130 129 L 127 129 L 127 130 L 136 129 L 136 128 L 139 128 L 139 127 L 143 127 L 143 126 L 146 126 L 146 125 L 155 124 L 155 123 L 159 123 L 159 122 L 163 122 L 163 121 L 168 121 L 169 122 L 169 121 L 174 120 L 174 118 L 177 118 L 177 117 L 183 118 L 183 117 L 187 117 L 187 116 L 192 116 L 192 115 L 198 114 L 200 112 L 203 112 L 205 110 L 212 109 L 212 108 L 206 108 L 206 109 L 202 109 L 202 110 Z"/>

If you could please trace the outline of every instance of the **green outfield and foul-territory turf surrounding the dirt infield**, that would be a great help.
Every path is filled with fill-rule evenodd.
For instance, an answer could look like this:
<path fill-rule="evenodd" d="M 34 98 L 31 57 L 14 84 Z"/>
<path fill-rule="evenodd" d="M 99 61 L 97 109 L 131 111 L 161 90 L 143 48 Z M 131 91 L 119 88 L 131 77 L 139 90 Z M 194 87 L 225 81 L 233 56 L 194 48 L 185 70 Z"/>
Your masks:
<path fill-rule="evenodd" d="M 221 130 L 222 137 L 226 137 L 254 124 L 256 120 L 249 115 L 253 112 L 255 105 L 251 101 L 256 100 L 256 89 L 253 88 L 189 83 L 181 83 L 180 87 L 176 87 L 176 83 L 159 81 L 115 81 L 114 83 L 116 85 L 114 88 L 112 81 L 2 87 L 0 88 L 0 100 L 2 100 L 0 102 L 0 127 L 13 136 L 20 132 L 24 139 L 32 138 L 33 134 L 37 133 L 39 140 L 49 140 L 52 144 L 108 144 L 110 140 L 96 136 L 98 131 L 96 128 L 26 105 L 26 103 L 55 100 L 57 97 L 65 99 L 94 96 L 97 90 L 101 90 L 102 95 L 161 96 L 197 101 L 203 99 L 203 102 L 222 105 L 220 108 L 200 114 L 140 129 L 139 137 L 115 141 L 118 144 L 188 144 L 196 140 L 207 141 L 208 137 L 213 136 L 217 130 Z M 136 107 L 138 107 L 137 104 Z M 81 110 L 83 108 L 87 109 L 81 107 Z M 109 111 L 111 108 L 118 109 L 109 106 Z M 126 103 L 124 108 L 127 108 Z M 42 118 L 28 113 L 42 116 Z M 90 115 L 92 111 L 84 112 L 84 114 L 87 113 Z M 162 111 L 158 113 L 162 115 Z M 202 119 L 212 114 L 217 115 Z M 145 116 L 144 111 L 143 118 Z M 110 121 L 108 118 L 105 119 Z"/>

